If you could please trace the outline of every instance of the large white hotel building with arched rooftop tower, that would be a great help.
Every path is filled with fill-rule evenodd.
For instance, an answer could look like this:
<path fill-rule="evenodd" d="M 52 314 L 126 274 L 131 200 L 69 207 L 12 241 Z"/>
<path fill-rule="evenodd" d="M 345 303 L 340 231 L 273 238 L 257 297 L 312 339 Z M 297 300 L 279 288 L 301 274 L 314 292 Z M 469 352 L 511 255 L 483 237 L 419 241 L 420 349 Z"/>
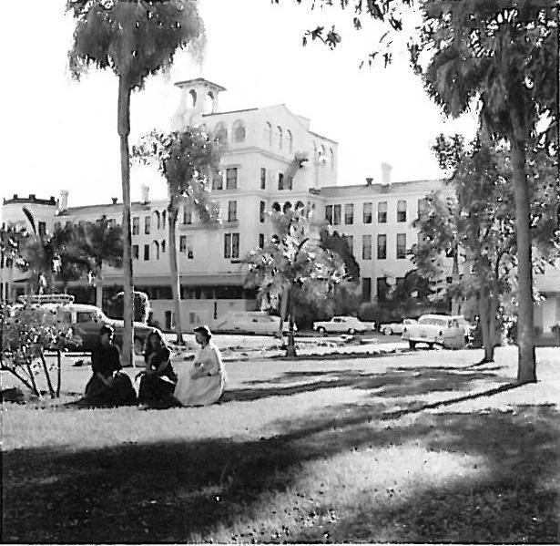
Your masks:
<path fill-rule="evenodd" d="M 337 185 L 338 144 L 311 130 L 310 119 L 295 115 L 285 105 L 220 112 L 217 84 L 197 78 L 176 84 L 181 90 L 171 129 L 202 125 L 219 133 L 228 143 L 222 157 L 221 180 L 215 180 L 212 199 L 219 202 L 222 223 L 208 228 L 194 212 L 181 211 L 178 223 L 183 321 L 187 327 L 212 325 L 229 310 L 257 306 L 255 291 L 244 288 L 241 259 L 272 234 L 267 211 L 299 201 L 313 210 L 316 226 L 329 222 L 351 237 L 360 265 L 361 299 L 375 301 L 387 284 L 395 283 L 412 269 L 407 251 L 417 241 L 412 221 L 423 197 L 433 190 L 445 192 L 441 180 L 391 182 L 391 168 L 383 165 L 382 180 Z M 300 162 L 307 156 L 308 160 Z M 117 200 L 114 200 L 117 201 Z M 5 199 L 2 221 L 25 224 L 22 207 L 35 216 L 39 231 L 57 224 L 95 221 L 102 215 L 121 220 L 121 203 L 69 207 L 67 191 L 59 200 L 35 195 Z M 153 321 L 163 328 L 172 323 L 168 266 L 167 202 L 150 201 L 148 188 L 142 201 L 132 203 L 134 283 L 147 292 Z M 0 268 L 1 294 L 10 299 L 24 292 L 25 274 L 13 267 Z M 546 331 L 560 321 L 560 274 L 557 270 L 537 279 L 546 300 L 535 311 L 535 324 Z M 107 267 L 107 297 L 121 289 L 122 272 Z M 93 302 L 95 289 L 85 282 L 70 284 L 69 292 L 81 301 Z"/>

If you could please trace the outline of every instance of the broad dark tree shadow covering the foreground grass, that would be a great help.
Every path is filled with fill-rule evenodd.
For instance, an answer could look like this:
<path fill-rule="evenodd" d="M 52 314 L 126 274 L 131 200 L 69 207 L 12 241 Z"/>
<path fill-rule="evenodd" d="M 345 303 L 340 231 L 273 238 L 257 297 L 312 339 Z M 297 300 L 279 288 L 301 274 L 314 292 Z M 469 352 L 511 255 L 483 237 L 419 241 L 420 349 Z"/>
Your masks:
<path fill-rule="evenodd" d="M 560 416 L 554 407 L 523 407 L 520 415 L 423 415 L 413 423 L 392 422 L 391 428 L 375 423 L 379 410 L 331 407 L 286 421 L 279 436 L 259 440 L 7 452 L 3 541 L 217 540 L 213 530 L 239 524 L 239 518 L 248 519 L 249 527 L 266 523 L 270 496 L 297 484 L 302 464 L 410 442 L 480 456 L 484 474 L 424 485 L 402 500 L 375 506 L 371 492 L 357 488 L 353 510 L 337 508 L 330 541 L 558 540 Z M 271 534 L 251 535 L 249 527 L 247 535 L 228 541 L 271 540 Z M 324 529 L 314 526 L 277 535 L 278 541 L 325 540 Z"/>

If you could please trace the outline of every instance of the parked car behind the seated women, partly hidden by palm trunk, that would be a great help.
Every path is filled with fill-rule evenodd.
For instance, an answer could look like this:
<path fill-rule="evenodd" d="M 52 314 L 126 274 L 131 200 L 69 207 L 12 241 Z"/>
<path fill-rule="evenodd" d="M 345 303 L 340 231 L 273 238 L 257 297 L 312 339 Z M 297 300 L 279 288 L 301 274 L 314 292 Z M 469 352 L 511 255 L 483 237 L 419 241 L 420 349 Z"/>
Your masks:
<path fill-rule="evenodd" d="M 87 304 L 44 304 L 56 310 L 58 320 L 70 325 L 74 335 L 82 340 L 81 345 L 71 347 L 78 351 L 89 352 L 99 342 L 99 329 L 102 325 L 111 325 L 115 328 L 115 343 L 122 346 L 124 321 L 109 318 L 95 305 Z M 134 352 L 142 354 L 148 334 L 155 328 L 144 323 L 134 323 Z"/>

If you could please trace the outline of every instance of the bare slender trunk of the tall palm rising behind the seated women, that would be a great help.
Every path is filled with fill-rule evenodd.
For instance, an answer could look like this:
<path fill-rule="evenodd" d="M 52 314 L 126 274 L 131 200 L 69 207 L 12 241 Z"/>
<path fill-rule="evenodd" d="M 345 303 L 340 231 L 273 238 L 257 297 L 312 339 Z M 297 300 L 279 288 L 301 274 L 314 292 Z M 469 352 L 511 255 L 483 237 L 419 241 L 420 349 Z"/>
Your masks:
<path fill-rule="evenodd" d="M 120 172 L 123 189 L 123 332 L 122 365 L 134 366 L 134 297 L 132 284 L 132 232 L 130 231 L 130 88 L 127 78 L 118 77 L 117 130 L 120 137 Z"/>

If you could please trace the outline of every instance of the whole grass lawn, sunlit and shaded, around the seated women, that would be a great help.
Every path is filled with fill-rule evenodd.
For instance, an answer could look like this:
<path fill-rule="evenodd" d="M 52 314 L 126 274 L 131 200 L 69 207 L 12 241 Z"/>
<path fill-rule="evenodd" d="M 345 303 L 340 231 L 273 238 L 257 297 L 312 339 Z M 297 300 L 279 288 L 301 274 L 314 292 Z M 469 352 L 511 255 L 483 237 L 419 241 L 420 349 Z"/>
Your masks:
<path fill-rule="evenodd" d="M 228 363 L 213 407 L 5 404 L 2 541 L 558 542 L 556 353 L 514 388 L 504 347 Z"/>

